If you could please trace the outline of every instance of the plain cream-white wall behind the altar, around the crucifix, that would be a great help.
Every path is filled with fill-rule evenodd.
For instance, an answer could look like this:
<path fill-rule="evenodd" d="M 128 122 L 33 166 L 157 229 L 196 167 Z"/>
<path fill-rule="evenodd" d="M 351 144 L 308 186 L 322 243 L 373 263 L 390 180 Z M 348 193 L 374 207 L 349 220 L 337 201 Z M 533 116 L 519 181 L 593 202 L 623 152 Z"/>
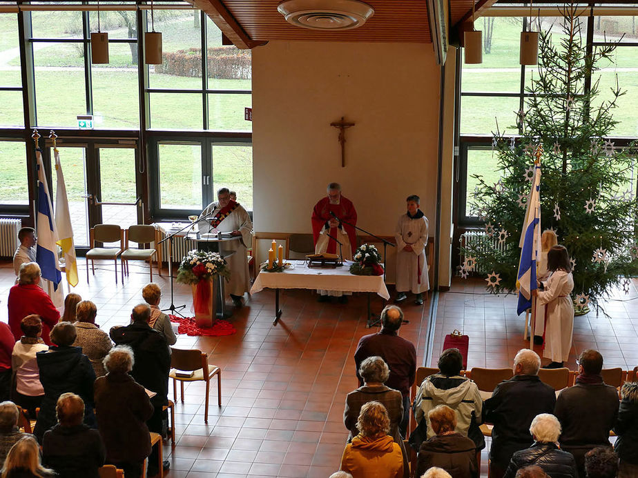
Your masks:
<path fill-rule="evenodd" d="M 434 234 L 439 68 L 432 45 L 272 41 L 253 49 L 255 230 L 311 232 L 327 183 L 358 226 L 393 235 L 419 195 Z M 338 130 L 345 116 L 346 167 Z"/>

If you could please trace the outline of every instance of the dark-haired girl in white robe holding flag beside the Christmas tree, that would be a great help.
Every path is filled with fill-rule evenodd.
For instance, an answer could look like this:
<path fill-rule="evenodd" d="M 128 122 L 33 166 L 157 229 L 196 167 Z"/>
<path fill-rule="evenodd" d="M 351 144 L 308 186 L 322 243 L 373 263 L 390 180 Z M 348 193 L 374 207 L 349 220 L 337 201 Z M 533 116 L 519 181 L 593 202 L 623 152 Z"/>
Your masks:
<path fill-rule="evenodd" d="M 547 265 L 550 277 L 539 284 L 539 290 L 532 290 L 532 295 L 537 295 L 537 300 L 546 306 L 543 357 L 551 363 L 543 368 L 561 368 L 569 359 L 574 332 L 574 303 L 570 297 L 574 278 L 567 249 L 552 246 Z"/>

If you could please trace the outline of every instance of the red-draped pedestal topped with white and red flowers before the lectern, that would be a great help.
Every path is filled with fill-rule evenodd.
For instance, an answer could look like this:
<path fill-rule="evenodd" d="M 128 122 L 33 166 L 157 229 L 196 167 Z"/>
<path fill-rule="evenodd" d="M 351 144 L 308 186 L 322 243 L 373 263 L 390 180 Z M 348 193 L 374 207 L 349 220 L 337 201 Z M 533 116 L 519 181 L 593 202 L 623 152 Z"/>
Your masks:
<path fill-rule="evenodd" d="M 215 323 L 215 297 L 218 276 L 231 276 L 226 260 L 217 252 L 191 250 L 184 256 L 175 281 L 190 284 L 193 290 L 193 309 L 198 327 Z"/>

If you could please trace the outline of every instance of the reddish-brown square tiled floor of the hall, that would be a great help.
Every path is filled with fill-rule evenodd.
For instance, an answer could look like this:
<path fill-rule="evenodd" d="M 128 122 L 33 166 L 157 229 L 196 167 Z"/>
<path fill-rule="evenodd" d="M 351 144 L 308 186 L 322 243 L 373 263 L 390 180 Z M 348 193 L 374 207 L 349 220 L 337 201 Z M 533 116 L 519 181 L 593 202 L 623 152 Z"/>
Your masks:
<path fill-rule="evenodd" d="M 80 283 L 74 292 L 94 301 L 103 329 L 128 322 L 131 308 L 142 301 L 148 268 L 131 263 L 131 275 L 114 282 L 113 266 L 100 264 L 86 284 L 84 259 L 79 259 Z M 171 303 L 164 277 L 154 275 Z M 119 280 L 119 279 L 118 279 Z M 6 297 L 14 281 L 9 262 L 0 263 L 0 320 L 6 321 Z M 512 312 L 514 297 L 485 295 L 481 281 L 455 281 L 438 297 L 434 333 L 434 362 L 443 335 L 458 328 L 470 335 L 472 366 L 508 366 L 525 344 L 522 320 Z M 636 283 L 629 298 L 637 297 Z M 620 297 L 620 296 L 619 296 Z M 620 297 L 623 300 L 627 296 Z M 176 284 L 175 305 L 188 303 L 191 292 Z M 374 309 L 383 306 L 374 299 Z M 215 404 L 211 385 L 209 423 L 204 424 L 202 384 L 186 386 L 185 403 L 175 406 L 177 446 L 164 445 L 171 461 L 168 478 L 317 477 L 338 470 L 347 433 L 342 424 L 345 395 L 356 388 L 353 355 L 358 339 L 376 329 L 365 327 L 365 297 L 352 297 L 346 306 L 317 303 L 304 290 L 282 294 L 283 316 L 272 326 L 273 292 L 264 290 L 235 311 L 230 319 L 237 334 L 229 337 L 180 336 L 176 346 L 200 348 L 209 362 L 222 368 L 222 408 Z M 417 347 L 424 361 L 429 302 L 407 303 L 400 333 Z M 638 301 L 611 302 L 610 318 L 577 319 L 575 348 L 598 346 L 606 364 L 631 368 L 638 361 Z M 595 333 L 594 333 L 595 332 Z M 172 390 L 172 386 L 171 386 Z M 489 445 L 488 445 L 489 446 Z M 482 476 L 487 458 L 482 459 Z"/>

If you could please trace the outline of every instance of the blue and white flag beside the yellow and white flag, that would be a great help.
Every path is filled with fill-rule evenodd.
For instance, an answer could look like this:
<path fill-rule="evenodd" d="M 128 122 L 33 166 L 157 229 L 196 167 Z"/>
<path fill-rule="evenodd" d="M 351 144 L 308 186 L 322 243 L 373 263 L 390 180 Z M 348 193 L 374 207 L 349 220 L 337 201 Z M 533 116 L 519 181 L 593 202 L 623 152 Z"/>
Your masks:
<path fill-rule="evenodd" d="M 53 208 L 46 176 L 44 175 L 44 163 L 39 149 L 36 150 L 35 156 L 38 162 L 38 215 L 36 221 L 38 246 L 35 252 L 35 260 L 40 266 L 42 277 L 51 281 L 54 290 L 57 290 L 62 280 L 62 273 L 57 259 L 57 230 L 53 221 Z"/>

